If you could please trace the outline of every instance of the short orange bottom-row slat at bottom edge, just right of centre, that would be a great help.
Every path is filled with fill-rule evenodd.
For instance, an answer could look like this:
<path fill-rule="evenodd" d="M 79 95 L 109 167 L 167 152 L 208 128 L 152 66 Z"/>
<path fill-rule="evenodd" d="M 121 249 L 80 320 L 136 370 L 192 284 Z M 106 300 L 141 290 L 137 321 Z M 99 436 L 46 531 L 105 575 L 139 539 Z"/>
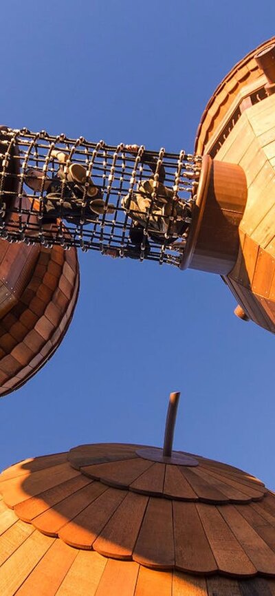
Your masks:
<path fill-rule="evenodd" d="M 140 566 L 135 596 L 171 596 L 172 578 L 170 571 L 155 571 Z"/>

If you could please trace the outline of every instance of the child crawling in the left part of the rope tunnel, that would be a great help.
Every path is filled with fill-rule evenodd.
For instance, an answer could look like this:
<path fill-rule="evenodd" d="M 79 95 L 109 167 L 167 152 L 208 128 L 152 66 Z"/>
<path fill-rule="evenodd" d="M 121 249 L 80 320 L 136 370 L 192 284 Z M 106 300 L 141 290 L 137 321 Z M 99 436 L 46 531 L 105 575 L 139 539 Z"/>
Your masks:
<path fill-rule="evenodd" d="M 82 164 L 69 163 L 63 151 L 52 151 L 51 157 L 59 162 L 59 169 L 52 178 L 45 176 L 41 169 L 29 168 L 25 171 L 24 182 L 33 191 L 45 191 L 43 200 L 43 227 L 56 224 L 57 218 L 63 217 L 69 223 L 80 224 L 95 222 L 98 215 L 104 213 L 105 202 L 102 190 L 91 178 L 87 178 L 87 169 Z M 64 167 L 67 165 L 67 173 Z M 85 206 L 83 206 L 83 195 Z M 113 213 L 115 206 L 107 204 L 107 213 Z"/>

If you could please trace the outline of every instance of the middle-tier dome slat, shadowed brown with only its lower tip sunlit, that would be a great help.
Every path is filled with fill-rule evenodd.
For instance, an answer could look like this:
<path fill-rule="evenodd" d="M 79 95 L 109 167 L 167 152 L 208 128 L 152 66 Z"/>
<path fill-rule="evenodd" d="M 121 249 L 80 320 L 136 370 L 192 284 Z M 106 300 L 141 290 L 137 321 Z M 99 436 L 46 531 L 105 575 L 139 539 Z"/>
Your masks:
<path fill-rule="evenodd" d="M 76 516 L 58 532 L 59 538 L 77 548 L 91 549 L 111 515 L 125 498 L 124 491 L 106 489 L 82 513 Z"/>

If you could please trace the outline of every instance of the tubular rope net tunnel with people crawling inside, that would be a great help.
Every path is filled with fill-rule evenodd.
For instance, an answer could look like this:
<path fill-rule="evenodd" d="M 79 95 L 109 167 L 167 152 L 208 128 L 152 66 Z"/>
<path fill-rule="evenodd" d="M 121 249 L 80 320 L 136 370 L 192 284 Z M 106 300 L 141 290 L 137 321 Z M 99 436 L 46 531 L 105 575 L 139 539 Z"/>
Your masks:
<path fill-rule="evenodd" d="M 0 237 L 179 266 L 201 158 L 0 129 Z"/>

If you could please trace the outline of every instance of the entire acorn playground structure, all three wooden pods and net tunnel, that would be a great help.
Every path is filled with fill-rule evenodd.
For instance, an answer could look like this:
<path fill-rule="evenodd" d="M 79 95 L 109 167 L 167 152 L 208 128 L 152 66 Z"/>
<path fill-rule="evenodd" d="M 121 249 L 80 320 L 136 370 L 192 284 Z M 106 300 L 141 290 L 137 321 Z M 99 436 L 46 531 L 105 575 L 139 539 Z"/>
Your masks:
<path fill-rule="evenodd" d="M 195 155 L 2 127 L 2 394 L 62 340 L 78 295 L 78 247 L 218 273 L 236 314 L 274 332 L 274 41 L 218 87 Z M 73 169 L 82 194 L 69 213 Z M 52 217 L 47 185 L 56 178 Z M 138 194 L 140 211 L 131 206 Z M 80 445 L 3 471 L 1 594 L 275 595 L 274 493 L 235 467 L 173 451 L 178 398 L 170 396 L 163 449 Z"/>

